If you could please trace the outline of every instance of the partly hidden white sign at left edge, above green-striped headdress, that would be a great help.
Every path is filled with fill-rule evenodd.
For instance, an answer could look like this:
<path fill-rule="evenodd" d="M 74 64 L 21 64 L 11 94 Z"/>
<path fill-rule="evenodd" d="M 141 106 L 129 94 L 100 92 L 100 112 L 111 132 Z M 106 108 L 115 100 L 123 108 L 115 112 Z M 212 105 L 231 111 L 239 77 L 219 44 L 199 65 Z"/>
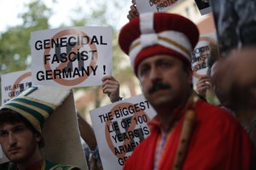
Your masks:
<path fill-rule="evenodd" d="M 15 71 L 1 75 L 2 104 L 19 95 L 26 88 L 32 87 L 31 71 Z"/>

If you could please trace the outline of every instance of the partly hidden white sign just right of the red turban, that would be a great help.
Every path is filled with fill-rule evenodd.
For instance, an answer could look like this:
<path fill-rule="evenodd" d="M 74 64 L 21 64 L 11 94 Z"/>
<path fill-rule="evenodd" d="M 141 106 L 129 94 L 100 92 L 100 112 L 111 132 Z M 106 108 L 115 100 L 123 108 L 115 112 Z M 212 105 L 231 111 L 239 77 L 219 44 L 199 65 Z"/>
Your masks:
<path fill-rule="evenodd" d="M 193 83 L 202 75 L 210 75 L 213 63 L 218 59 L 217 36 L 215 32 L 200 37 L 192 53 Z"/>

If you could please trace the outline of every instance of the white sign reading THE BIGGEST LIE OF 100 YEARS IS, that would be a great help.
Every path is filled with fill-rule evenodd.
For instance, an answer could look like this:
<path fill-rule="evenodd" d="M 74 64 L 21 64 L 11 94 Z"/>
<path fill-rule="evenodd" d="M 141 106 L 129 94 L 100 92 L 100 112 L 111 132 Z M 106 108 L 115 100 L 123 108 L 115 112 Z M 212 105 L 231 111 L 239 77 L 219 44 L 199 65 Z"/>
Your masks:
<path fill-rule="evenodd" d="M 104 169 L 122 169 L 137 144 L 147 138 L 154 115 L 143 94 L 90 111 Z"/>

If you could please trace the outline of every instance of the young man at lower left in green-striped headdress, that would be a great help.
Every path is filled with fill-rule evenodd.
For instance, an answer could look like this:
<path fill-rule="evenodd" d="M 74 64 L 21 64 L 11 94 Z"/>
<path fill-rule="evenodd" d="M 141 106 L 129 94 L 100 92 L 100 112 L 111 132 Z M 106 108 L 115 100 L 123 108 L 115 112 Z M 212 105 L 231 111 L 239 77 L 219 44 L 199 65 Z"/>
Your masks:
<path fill-rule="evenodd" d="M 11 161 L 9 170 L 79 170 L 79 167 L 55 164 L 41 155 L 40 148 L 44 147 L 42 126 L 55 110 L 55 105 L 30 97 L 42 88 L 28 88 L 0 108 L 0 144 Z"/>

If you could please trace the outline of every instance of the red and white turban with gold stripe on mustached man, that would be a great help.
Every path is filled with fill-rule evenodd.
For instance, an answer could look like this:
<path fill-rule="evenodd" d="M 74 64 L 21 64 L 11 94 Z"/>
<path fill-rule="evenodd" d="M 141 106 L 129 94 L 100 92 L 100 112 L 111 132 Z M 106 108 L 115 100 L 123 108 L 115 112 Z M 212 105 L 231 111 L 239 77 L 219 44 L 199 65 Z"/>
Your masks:
<path fill-rule="evenodd" d="M 169 13 L 145 13 L 119 32 L 119 46 L 137 65 L 155 54 L 170 54 L 191 63 L 191 52 L 199 39 L 197 26 L 189 19 Z"/>

